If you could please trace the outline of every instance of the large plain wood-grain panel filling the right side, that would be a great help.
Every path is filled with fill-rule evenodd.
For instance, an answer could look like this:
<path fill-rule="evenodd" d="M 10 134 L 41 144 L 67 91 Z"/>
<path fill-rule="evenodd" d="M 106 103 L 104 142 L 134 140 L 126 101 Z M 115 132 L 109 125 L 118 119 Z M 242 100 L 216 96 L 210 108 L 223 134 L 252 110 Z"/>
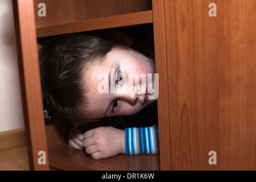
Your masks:
<path fill-rule="evenodd" d="M 255 170 L 256 1 L 164 3 L 172 169 Z"/>

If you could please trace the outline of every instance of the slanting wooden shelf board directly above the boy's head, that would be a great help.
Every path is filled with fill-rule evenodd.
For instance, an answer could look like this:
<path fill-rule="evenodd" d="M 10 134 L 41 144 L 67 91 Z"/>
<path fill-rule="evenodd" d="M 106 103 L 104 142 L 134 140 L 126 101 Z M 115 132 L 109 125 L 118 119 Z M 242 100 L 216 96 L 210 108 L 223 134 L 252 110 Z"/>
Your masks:
<path fill-rule="evenodd" d="M 37 37 L 152 23 L 152 10 L 36 28 Z"/>

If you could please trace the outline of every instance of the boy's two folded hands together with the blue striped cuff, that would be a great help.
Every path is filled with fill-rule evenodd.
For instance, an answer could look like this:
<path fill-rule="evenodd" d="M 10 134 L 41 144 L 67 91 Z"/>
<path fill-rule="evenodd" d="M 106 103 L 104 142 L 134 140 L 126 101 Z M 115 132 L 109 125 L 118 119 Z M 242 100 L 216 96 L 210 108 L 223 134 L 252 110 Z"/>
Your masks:
<path fill-rule="evenodd" d="M 92 155 L 93 159 L 106 159 L 118 154 L 159 154 L 158 126 L 156 125 L 125 130 L 97 127 L 85 132 L 84 135 L 81 130 L 78 133 L 75 131 L 71 133 L 73 137 L 70 135 L 69 148 L 75 150 L 86 148 L 86 152 Z M 84 139 L 83 142 L 80 137 Z"/>

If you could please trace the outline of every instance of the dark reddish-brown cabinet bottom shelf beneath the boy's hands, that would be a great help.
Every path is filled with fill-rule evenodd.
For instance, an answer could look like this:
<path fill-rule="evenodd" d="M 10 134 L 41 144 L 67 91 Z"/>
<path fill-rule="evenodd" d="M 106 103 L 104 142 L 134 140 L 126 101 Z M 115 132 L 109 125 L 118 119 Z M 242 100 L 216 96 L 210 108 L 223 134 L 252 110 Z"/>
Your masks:
<path fill-rule="evenodd" d="M 94 160 L 82 151 L 69 150 L 59 144 L 48 149 L 49 166 L 53 169 L 76 171 L 158 171 L 159 155 L 118 155 L 110 159 Z"/>

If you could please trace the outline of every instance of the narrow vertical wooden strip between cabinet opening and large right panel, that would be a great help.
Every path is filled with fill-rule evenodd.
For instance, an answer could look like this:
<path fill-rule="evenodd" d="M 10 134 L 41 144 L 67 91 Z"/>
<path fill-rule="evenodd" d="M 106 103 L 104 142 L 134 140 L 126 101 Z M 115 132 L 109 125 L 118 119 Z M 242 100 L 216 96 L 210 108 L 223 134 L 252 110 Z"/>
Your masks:
<path fill-rule="evenodd" d="M 156 73 L 159 73 L 158 125 L 160 169 L 171 170 L 170 116 L 167 77 L 166 32 L 163 1 L 153 0 Z"/>

